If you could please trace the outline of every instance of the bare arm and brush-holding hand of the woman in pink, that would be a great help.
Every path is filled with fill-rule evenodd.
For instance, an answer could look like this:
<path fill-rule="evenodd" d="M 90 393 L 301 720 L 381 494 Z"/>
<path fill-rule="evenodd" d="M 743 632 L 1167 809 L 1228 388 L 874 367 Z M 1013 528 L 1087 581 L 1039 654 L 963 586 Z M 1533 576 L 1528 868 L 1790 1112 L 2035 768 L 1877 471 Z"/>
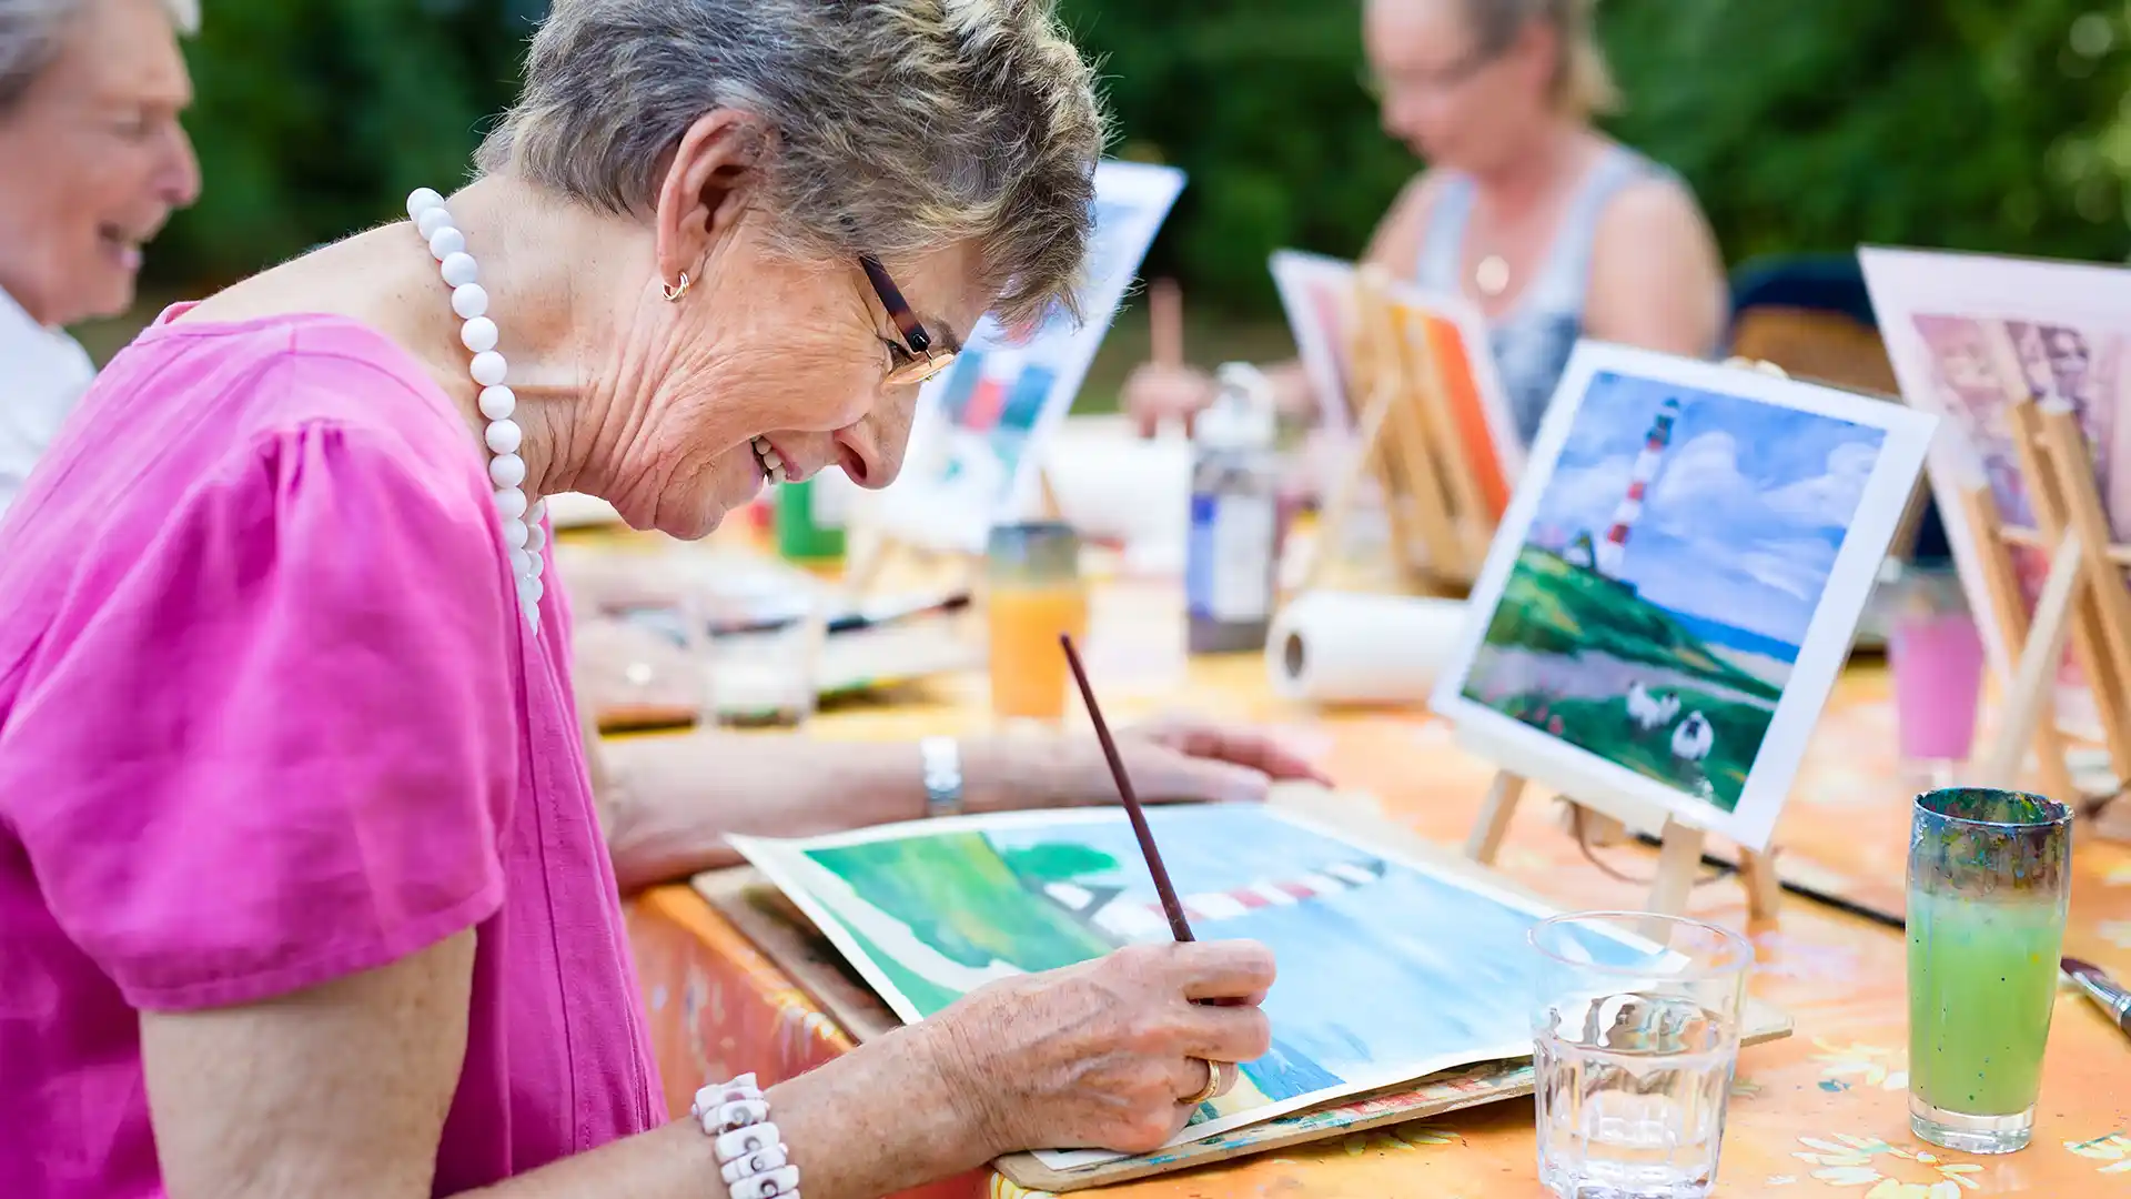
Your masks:
<path fill-rule="evenodd" d="M 467 1050 L 475 932 L 243 1007 L 141 1013 L 170 1199 L 426 1199 Z M 1266 1054 L 1262 945 L 1132 945 L 1016 975 L 767 1090 L 801 1190 L 872 1199 L 1040 1144 L 1144 1152 L 1206 1060 Z M 1204 1005 L 1200 998 L 1236 998 Z M 673 1122 L 522 1173 L 488 1199 L 722 1199 L 712 1139 Z"/>

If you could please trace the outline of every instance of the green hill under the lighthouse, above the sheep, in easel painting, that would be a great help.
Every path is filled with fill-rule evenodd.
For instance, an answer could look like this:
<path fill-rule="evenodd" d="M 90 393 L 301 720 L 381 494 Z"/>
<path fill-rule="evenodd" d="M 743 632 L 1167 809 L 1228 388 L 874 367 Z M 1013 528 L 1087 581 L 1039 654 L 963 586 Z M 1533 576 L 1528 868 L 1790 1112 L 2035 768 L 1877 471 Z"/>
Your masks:
<path fill-rule="evenodd" d="M 1560 655 L 1605 653 L 1677 670 L 1771 704 L 1784 696 L 1779 685 L 1726 661 L 1664 608 L 1536 546 L 1524 546 L 1517 555 L 1502 602 L 1487 623 L 1487 644 Z"/>

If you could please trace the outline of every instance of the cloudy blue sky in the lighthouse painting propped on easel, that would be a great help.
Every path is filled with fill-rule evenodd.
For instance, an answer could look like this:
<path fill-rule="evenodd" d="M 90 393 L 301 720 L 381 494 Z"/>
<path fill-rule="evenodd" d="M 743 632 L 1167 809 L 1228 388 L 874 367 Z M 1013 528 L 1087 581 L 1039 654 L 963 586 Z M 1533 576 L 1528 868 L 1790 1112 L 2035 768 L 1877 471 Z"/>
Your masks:
<path fill-rule="evenodd" d="M 1884 433 L 1869 425 L 1600 371 L 1541 495 L 1534 540 L 1605 538 L 1666 397 L 1681 414 L 1622 576 L 1654 604 L 1799 644 L 1880 459 Z"/>

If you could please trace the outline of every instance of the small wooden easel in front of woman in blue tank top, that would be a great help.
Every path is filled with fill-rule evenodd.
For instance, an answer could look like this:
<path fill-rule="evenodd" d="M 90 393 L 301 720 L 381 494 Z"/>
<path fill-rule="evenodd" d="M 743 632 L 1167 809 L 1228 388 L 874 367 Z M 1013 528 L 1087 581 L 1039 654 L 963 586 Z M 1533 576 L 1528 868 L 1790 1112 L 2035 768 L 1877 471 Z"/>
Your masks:
<path fill-rule="evenodd" d="M 1421 314 L 1389 288 L 1383 267 L 1355 275 L 1353 378 L 1364 399 L 1355 469 L 1325 497 L 1302 591 L 1325 582 L 1364 478 L 1383 491 L 1394 557 L 1426 591 L 1468 591 L 1494 540 L 1496 521 L 1466 463 Z"/>

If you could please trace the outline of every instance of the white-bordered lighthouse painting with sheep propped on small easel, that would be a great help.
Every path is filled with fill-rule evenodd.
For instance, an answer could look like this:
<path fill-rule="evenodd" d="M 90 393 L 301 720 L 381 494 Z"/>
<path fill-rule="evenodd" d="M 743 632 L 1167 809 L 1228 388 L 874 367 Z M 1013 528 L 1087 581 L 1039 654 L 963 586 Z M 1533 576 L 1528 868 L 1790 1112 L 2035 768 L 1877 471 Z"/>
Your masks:
<path fill-rule="evenodd" d="M 1577 346 L 1434 710 L 1564 794 L 1767 847 L 1935 422 Z"/>

